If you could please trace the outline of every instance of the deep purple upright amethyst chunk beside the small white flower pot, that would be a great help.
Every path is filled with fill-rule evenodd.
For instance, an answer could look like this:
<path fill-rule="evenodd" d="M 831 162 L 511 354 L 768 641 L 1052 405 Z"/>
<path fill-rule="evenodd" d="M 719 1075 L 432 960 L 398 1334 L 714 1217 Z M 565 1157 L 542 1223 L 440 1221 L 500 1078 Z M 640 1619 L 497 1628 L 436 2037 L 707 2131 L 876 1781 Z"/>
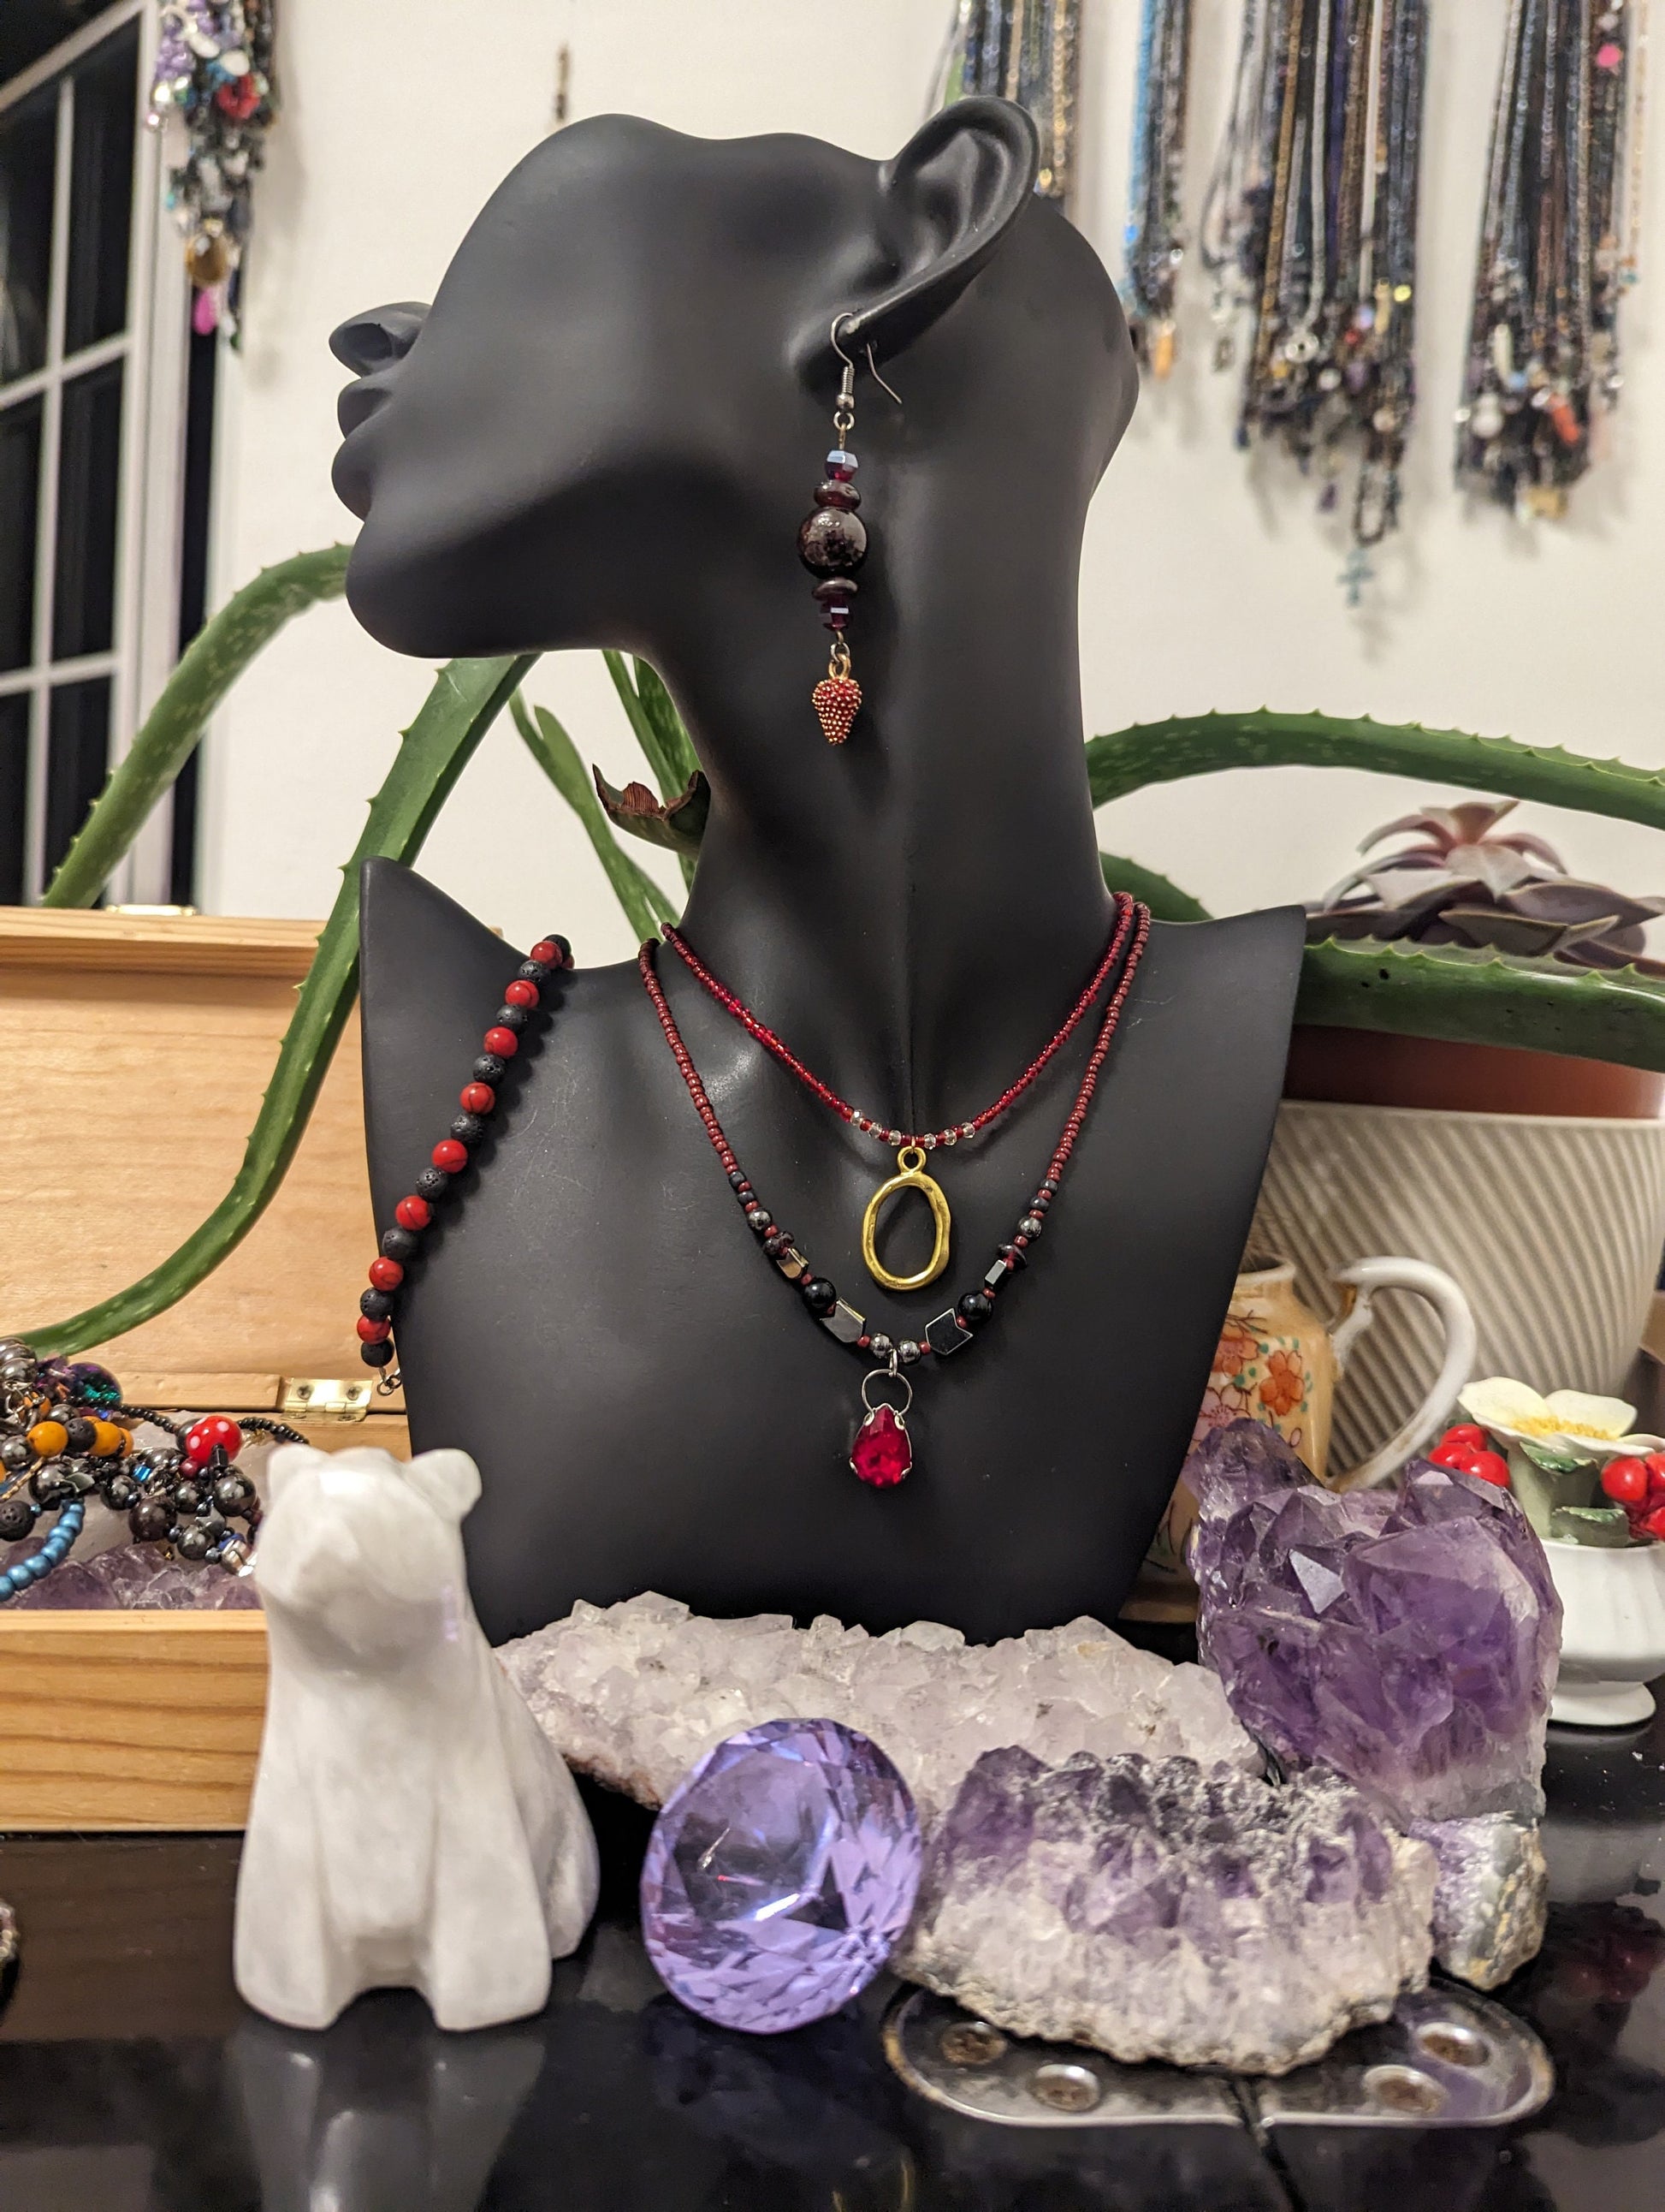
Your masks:
<path fill-rule="evenodd" d="M 1508 1491 L 1413 1460 L 1338 1495 L 1234 1420 L 1185 1462 L 1198 1644 L 1285 1765 L 1327 1765 L 1400 1820 L 1543 1812 L 1561 1599 Z"/>

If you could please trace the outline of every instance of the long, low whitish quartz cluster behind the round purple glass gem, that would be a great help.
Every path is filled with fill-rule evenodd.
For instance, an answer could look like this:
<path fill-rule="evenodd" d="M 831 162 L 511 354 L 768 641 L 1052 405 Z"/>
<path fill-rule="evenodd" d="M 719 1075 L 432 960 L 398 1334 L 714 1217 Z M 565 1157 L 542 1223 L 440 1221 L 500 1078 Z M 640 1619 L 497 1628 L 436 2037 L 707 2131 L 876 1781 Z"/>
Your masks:
<path fill-rule="evenodd" d="M 1046 1761 L 1143 1752 L 1260 1770 L 1214 1674 L 1088 1619 L 977 1646 L 935 1621 L 871 1637 L 829 1615 L 712 1621 L 646 1595 L 579 1604 L 498 1657 L 568 1763 L 641 1805 L 663 1805 L 723 1736 L 776 1719 L 871 1736 L 926 1829 L 973 1763 L 1010 1743 Z"/>

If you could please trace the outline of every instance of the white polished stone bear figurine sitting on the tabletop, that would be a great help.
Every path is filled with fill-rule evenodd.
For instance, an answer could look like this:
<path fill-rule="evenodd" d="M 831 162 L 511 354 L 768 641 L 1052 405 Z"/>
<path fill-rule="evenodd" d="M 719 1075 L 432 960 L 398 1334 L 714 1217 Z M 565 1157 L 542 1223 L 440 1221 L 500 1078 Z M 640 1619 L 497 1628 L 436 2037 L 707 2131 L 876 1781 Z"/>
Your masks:
<path fill-rule="evenodd" d="M 292 2028 L 387 1986 L 418 1989 L 442 2028 L 535 2013 L 599 1869 L 577 1785 L 469 1601 L 473 1460 L 283 1444 L 268 1482 L 239 1991 Z"/>

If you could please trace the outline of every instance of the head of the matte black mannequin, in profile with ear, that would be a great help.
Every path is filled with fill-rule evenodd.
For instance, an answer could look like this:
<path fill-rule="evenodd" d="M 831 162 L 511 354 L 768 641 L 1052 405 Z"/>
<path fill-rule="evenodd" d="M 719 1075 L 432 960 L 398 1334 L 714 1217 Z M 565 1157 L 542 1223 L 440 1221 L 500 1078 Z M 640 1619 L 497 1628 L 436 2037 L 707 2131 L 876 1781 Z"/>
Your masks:
<path fill-rule="evenodd" d="M 1099 259 L 1033 181 L 1033 126 L 993 100 L 884 164 L 619 115 L 544 139 L 431 307 L 332 338 L 360 372 L 334 471 L 365 520 L 354 613 L 425 657 L 610 644 L 674 668 L 725 599 L 789 595 L 814 655 L 796 531 L 838 314 L 889 560 L 1072 575 L 1137 374 Z"/>

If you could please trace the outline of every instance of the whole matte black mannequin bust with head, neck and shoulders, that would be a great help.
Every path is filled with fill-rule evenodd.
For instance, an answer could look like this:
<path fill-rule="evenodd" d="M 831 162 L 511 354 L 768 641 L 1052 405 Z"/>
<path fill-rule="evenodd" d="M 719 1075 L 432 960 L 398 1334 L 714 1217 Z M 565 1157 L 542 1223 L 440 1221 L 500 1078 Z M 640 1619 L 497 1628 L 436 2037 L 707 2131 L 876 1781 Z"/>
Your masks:
<path fill-rule="evenodd" d="M 358 619 L 427 657 L 650 659 L 712 785 L 688 940 L 836 1091 L 915 1128 L 1006 1088 L 1112 920 L 1077 568 L 1137 369 L 1101 263 L 1033 179 L 1030 124 L 1004 102 L 946 108 L 887 164 L 601 117 L 513 170 L 431 310 L 332 341 L 360 372 L 336 462 L 365 518 Z M 840 314 L 871 553 L 849 633 L 867 703 L 829 748 L 796 533 L 831 445 Z M 513 825 L 504 867 L 537 867 Z M 559 929 L 557 883 L 546 902 Z M 416 1447 L 462 1444 L 484 1473 L 467 1540 L 489 1635 L 643 1588 L 973 1639 L 1114 1619 L 1249 1228 L 1300 936 L 1296 909 L 1152 931 L 1033 1265 L 975 1347 L 911 1371 L 915 1471 L 889 1491 L 847 1464 L 867 1367 L 758 1252 L 635 964 L 553 987 L 398 1316 Z M 380 1223 L 517 960 L 418 876 L 365 872 Z M 659 973 L 761 1201 L 869 1327 L 918 1336 L 977 1285 L 1046 1172 L 1097 1015 L 980 1141 L 933 1155 L 953 1259 L 893 1296 L 860 1256 L 893 1157 L 672 953 Z M 898 1223 L 896 1272 L 918 1234 Z"/>

